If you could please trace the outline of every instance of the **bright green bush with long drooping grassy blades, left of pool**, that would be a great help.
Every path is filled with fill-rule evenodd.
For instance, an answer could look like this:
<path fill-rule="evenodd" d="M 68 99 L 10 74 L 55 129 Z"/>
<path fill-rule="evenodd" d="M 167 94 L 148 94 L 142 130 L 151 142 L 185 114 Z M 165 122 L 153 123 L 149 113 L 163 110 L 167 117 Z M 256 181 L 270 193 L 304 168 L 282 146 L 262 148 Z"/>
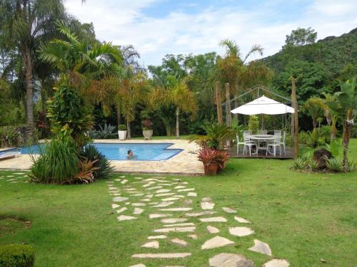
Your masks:
<path fill-rule="evenodd" d="M 69 138 L 53 139 L 40 152 L 39 157 L 32 157 L 34 164 L 29 177 L 35 182 L 64 184 L 79 173 L 79 153 L 76 145 Z"/>

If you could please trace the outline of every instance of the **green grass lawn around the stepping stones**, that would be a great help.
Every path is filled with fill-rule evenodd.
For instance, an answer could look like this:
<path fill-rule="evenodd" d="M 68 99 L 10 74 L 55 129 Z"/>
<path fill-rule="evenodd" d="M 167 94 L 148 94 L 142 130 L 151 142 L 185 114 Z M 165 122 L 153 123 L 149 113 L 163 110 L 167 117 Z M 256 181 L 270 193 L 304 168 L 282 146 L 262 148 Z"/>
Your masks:
<path fill-rule="evenodd" d="M 357 140 L 352 140 L 350 150 L 350 157 L 356 160 Z M 25 178 L 3 171 L 0 217 L 16 216 L 31 221 L 31 226 L 15 225 L 14 231 L 0 228 L 0 244 L 31 244 L 36 253 L 35 266 L 131 266 L 143 262 L 152 267 L 196 267 L 207 266 L 208 258 L 221 252 L 241 253 L 261 266 L 269 257 L 247 250 L 253 246 L 253 239 L 259 239 L 271 246 L 273 256 L 286 258 L 291 266 L 357 266 L 356 172 L 304 174 L 291 172 L 290 165 L 291 160 L 232 159 L 226 172 L 217 177 L 181 177 L 198 192 L 193 202 L 195 210 L 199 210 L 198 200 L 202 197 L 213 199 L 217 216 L 225 216 L 228 222 L 211 225 L 221 229 L 219 235 L 236 241 L 236 245 L 201 251 L 208 239 L 206 224 L 193 219 L 201 237 L 190 240 L 188 248 L 161 241 L 161 248 L 154 251 L 193 253 L 189 258 L 173 261 L 131 258 L 133 253 L 149 251 L 140 246 L 146 242 L 146 236 L 153 234 L 151 230 L 161 224 L 159 219 L 148 219 L 149 209 L 134 223 L 119 223 L 111 209 L 105 181 L 80 186 L 13 184 L 6 181 L 10 179 L 6 175 L 17 175 L 18 180 Z M 119 174 L 111 179 L 117 177 Z M 126 177 L 134 180 L 134 176 Z M 232 215 L 221 211 L 222 206 L 237 209 L 238 216 L 252 221 L 250 227 L 256 233 L 242 238 L 230 236 L 228 226 L 239 224 Z M 11 221 L 14 220 L 6 221 L 6 225 Z M 186 234 L 175 236 L 189 240 Z"/>

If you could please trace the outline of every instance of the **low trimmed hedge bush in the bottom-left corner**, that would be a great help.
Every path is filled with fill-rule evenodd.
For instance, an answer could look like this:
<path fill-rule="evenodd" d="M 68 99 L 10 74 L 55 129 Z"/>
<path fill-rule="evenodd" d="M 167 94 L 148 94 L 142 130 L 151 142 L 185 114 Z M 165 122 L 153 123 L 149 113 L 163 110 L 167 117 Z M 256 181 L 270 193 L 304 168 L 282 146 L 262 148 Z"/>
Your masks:
<path fill-rule="evenodd" d="M 34 261 L 34 248 L 29 245 L 0 246 L 1 267 L 32 267 Z"/>

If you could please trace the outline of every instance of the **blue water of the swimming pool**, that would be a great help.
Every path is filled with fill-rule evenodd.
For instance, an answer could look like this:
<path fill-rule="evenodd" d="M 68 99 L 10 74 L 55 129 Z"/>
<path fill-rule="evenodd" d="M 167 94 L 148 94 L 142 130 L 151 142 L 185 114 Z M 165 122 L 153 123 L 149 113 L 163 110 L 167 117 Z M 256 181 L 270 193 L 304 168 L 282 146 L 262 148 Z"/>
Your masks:
<path fill-rule="evenodd" d="M 174 157 L 181 149 L 169 149 L 173 143 L 92 143 L 99 152 L 111 160 L 127 160 L 128 150 L 133 150 L 135 158 L 131 160 L 164 160 Z M 21 154 L 39 154 L 46 145 L 19 147 Z"/>

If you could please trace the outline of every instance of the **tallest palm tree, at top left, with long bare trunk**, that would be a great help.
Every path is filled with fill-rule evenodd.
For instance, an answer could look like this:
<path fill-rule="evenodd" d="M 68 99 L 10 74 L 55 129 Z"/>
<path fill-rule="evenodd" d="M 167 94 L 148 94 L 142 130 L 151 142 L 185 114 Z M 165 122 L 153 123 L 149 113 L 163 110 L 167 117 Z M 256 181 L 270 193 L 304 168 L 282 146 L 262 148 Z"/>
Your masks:
<path fill-rule="evenodd" d="M 26 122 L 31 137 L 34 130 L 34 54 L 41 41 L 51 38 L 54 21 L 66 20 L 61 0 L 2 0 L 1 20 L 5 38 L 16 47 L 25 69 Z"/>

